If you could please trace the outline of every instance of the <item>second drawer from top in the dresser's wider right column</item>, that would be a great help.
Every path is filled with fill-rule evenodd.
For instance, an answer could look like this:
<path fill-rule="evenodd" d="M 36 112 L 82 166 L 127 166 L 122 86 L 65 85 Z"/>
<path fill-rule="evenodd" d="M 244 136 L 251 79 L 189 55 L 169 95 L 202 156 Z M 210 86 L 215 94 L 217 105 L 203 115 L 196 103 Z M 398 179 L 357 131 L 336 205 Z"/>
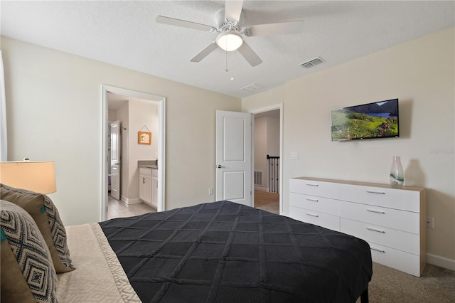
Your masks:
<path fill-rule="evenodd" d="M 403 230 L 408 233 L 420 233 L 419 214 L 411 211 L 341 201 L 340 213 L 343 218 Z"/>

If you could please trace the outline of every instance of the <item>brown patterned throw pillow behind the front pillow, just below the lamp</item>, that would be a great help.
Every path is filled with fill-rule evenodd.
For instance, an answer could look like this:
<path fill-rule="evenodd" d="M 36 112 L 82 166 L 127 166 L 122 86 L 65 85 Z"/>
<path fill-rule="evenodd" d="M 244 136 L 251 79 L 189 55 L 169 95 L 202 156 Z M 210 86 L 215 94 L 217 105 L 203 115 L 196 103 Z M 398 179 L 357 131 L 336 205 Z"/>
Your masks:
<path fill-rule="evenodd" d="M 0 184 L 0 198 L 21 206 L 35 220 L 48 245 L 56 272 L 69 272 L 75 269 L 66 244 L 65 226 L 48 196 Z"/>

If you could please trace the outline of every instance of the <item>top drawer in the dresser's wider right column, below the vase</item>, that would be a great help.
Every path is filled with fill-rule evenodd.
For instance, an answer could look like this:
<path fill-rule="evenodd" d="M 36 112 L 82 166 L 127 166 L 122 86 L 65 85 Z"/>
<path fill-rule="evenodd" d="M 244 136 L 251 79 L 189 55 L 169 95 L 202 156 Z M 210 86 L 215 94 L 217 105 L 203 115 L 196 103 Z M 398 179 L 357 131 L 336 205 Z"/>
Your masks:
<path fill-rule="evenodd" d="M 343 201 L 420 212 L 420 191 L 340 184 L 340 198 Z"/>

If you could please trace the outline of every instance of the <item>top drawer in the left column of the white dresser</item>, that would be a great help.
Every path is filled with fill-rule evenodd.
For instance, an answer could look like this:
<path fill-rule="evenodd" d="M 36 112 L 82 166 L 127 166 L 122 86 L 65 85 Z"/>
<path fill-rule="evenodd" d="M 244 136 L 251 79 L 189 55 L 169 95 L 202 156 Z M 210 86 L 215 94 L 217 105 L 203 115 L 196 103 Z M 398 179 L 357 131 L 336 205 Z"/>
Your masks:
<path fill-rule="evenodd" d="M 291 193 L 305 193 L 309 196 L 340 198 L 340 184 L 331 182 L 289 179 L 289 191 Z"/>

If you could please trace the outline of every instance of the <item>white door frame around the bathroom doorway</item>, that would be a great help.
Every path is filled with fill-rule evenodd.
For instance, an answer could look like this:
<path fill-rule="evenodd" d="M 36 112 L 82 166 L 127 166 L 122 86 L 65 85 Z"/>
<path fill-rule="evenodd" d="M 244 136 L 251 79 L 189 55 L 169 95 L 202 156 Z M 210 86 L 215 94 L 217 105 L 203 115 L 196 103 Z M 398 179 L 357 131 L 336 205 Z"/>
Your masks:
<path fill-rule="evenodd" d="M 137 97 L 144 100 L 158 102 L 158 116 L 159 116 L 159 148 L 158 148 L 158 206 L 157 211 L 164 211 L 165 208 L 165 172 L 166 172 L 166 97 L 159 95 L 152 95 L 147 92 L 139 92 L 137 90 L 127 90 L 121 87 L 114 87 L 110 85 L 101 85 L 101 100 L 102 100 L 102 158 L 101 163 L 101 220 L 107 219 L 107 171 L 109 164 L 109 156 L 107 156 L 107 137 L 109 133 L 108 121 L 108 104 L 107 93 L 111 92 L 117 95 L 124 95 L 129 97 Z"/>

